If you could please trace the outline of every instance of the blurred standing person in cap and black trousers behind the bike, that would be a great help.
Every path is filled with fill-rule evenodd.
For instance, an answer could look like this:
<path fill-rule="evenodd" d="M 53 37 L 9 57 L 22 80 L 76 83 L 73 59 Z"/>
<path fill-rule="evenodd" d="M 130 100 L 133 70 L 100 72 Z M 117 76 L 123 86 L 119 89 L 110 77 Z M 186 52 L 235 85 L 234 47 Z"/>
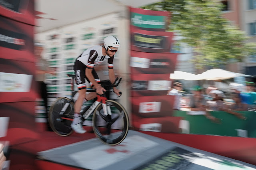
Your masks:
<path fill-rule="evenodd" d="M 44 44 L 41 42 L 34 43 L 34 55 L 36 57 L 36 82 L 38 84 L 40 97 L 44 100 L 44 107 L 46 111 L 46 117 L 48 118 L 47 111 L 47 90 L 45 81 L 45 74 L 54 74 L 55 71 L 49 68 L 49 63 L 42 57 L 42 51 L 44 50 Z M 47 120 L 47 130 L 52 131 Z"/>

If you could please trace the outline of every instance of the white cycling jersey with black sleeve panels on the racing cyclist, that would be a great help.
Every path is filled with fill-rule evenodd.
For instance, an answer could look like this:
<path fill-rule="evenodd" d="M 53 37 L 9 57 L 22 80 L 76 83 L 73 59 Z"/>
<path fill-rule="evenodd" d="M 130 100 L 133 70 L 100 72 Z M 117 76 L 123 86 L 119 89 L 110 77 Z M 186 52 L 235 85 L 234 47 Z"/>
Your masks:
<path fill-rule="evenodd" d="M 86 68 L 93 69 L 94 65 L 98 65 L 108 59 L 108 69 L 113 69 L 113 57 L 108 55 L 102 55 L 103 45 L 95 45 L 86 49 L 78 58 L 78 61 L 81 61 Z"/>

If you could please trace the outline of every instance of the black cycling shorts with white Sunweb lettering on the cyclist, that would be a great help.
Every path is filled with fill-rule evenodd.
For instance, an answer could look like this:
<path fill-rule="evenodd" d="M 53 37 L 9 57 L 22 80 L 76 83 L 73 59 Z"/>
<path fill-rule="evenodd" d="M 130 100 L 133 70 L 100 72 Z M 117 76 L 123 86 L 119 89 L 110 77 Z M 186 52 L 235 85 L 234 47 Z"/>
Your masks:
<path fill-rule="evenodd" d="M 77 84 L 78 90 L 86 89 L 86 81 L 85 80 L 87 80 L 88 83 L 90 83 L 91 87 L 94 86 L 90 82 L 90 80 L 86 77 L 85 69 L 86 69 L 86 65 L 84 65 L 81 61 L 79 61 L 79 60 L 75 61 L 74 71 L 76 74 L 76 84 Z M 97 75 L 94 68 L 92 69 L 92 75 L 97 83 L 100 82 L 99 76 Z"/>

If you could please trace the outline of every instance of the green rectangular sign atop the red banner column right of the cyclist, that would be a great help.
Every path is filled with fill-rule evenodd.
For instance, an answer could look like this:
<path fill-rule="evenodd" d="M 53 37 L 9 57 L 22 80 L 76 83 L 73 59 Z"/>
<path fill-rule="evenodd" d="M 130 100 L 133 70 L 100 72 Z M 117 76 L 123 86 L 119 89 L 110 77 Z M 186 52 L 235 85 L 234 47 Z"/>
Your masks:
<path fill-rule="evenodd" d="M 131 23 L 133 26 L 142 28 L 166 28 L 166 16 L 143 15 L 135 12 L 131 13 Z"/>

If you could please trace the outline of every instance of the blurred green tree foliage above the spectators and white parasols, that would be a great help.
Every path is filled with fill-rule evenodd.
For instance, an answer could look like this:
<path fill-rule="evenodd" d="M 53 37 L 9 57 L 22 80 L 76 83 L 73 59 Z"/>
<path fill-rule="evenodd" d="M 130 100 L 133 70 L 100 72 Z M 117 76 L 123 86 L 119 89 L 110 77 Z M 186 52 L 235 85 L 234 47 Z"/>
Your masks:
<path fill-rule="evenodd" d="M 219 0 L 164 0 L 142 7 L 170 11 L 169 31 L 184 37 L 194 48 L 196 67 L 219 67 L 231 61 L 243 61 L 256 52 L 255 43 L 245 43 L 246 34 L 224 18 Z"/>

